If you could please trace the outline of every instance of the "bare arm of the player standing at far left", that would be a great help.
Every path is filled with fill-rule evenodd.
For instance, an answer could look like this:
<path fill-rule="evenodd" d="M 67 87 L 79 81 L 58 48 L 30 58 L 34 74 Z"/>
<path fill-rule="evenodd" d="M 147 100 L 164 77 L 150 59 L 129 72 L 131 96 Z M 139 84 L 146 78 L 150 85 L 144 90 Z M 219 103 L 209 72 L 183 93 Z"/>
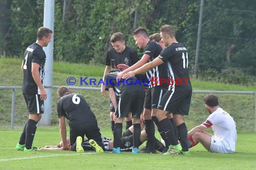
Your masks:
<path fill-rule="evenodd" d="M 32 63 L 31 72 L 32 72 L 33 79 L 34 79 L 36 85 L 38 86 L 38 88 L 40 90 L 40 99 L 41 100 L 46 100 L 47 93 L 46 93 L 46 91 L 44 89 L 44 86 L 41 82 L 40 72 L 38 71 L 39 68 L 40 68 L 39 64 Z"/>

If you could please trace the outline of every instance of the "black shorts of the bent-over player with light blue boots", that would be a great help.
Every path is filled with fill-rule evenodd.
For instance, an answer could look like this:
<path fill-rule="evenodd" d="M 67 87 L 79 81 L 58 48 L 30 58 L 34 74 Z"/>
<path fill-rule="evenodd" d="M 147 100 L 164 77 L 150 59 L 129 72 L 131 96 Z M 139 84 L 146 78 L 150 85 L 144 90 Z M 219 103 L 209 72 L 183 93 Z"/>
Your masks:
<path fill-rule="evenodd" d="M 119 117 L 127 118 L 129 112 L 132 112 L 132 118 L 140 118 L 143 110 L 143 103 L 145 100 L 145 92 L 132 91 L 124 94 L 118 102 L 115 115 Z"/>

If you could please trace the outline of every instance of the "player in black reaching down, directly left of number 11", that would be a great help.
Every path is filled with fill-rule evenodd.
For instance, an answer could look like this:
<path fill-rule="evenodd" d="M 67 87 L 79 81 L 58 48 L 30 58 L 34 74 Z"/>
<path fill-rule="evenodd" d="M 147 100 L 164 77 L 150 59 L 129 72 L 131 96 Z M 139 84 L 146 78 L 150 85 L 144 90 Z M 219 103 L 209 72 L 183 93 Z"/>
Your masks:
<path fill-rule="evenodd" d="M 131 66 L 130 68 L 121 72 L 117 78 L 122 78 L 125 73 L 129 71 L 133 71 L 136 68 L 140 68 L 144 64 L 153 61 L 155 58 L 158 57 L 162 48 L 160 45 L 154 41 L 151 41 L 148 37 L 148 32 L 144 28 L 138 28 L 133 32 L 133 38 L 135 40 L 135 44 L 138 45 L 139 48 L 144 49 L 144 55 L 142 56 L 141 60 L 138 61 L 136 64 Z M 144 72 L 142 72 L 144 73 Z M 156 110 L 159 105 L 159 102 L 163 96 L 163 94 L 168 89 L 168 84 L 163 82 L 160 86 L 160 83 L 154 83 L 154 79 L 168 79 L 168 72 L 167 72 L 167 64 L 164 63 L 162 65 L 156 66 L 147 70 L 146 72 L 147 78 L 150 80 L 149 82 L 149 91 L 146 93 L 145 103 L 144 103 L 144 111 L 143 111 L 143 119 L 145 121 L 146 133 L 148 136 L 148 143 L 149 143 L 149 152 L 148 153 L 156 153 L 154 147 L 154 123 L 158 124 L 158 120 L 156 118 Z M 158 129 L 162 132 L 161 128 Z M 164 137 L 164 133 L 160 133 L 163 140 L 166 139 Z M 168 141 L 165 141 L 168 144 Z"/>

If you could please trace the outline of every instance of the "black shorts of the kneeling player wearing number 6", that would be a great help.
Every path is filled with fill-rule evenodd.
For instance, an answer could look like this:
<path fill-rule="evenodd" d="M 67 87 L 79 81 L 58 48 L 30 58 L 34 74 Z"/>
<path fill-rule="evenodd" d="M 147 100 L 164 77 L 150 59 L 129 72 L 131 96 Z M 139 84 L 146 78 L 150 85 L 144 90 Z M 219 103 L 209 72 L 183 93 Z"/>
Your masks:
<path fill-rule="evenodd" d="M 69 135 L 70 135 L 70 145 L 75 143 L 77 136 L 81 136 L 83 139 L 82 141 L 84 141 L 84 136 L 86 136 L 88 140 L 93 139 L 96 142 L 102 142 L 102 139 L 103 139 L 100 128 L 95 122 L 83 123 L 83 124 L 72 126 L 69 129 Z"/>

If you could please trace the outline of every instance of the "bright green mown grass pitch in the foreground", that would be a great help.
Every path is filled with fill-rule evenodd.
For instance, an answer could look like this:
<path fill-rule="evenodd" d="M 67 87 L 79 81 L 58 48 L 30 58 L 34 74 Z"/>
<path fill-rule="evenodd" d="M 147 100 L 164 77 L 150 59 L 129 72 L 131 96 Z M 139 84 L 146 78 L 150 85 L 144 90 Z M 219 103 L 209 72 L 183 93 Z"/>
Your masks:
<path fill-rule="evenodd" d="M 111 137 L 108 127 L 102 135 Z M 24 153 L 15 150 L 21 129 L 0 130 L 0 170 L 253 170 L 256 169 L 255 133 L 238 133 L 236 152 L 232 154 L 208 153 L 201 144 L 190 149 L 190 156 L 163 156 L 161 154 L 136 155 L 132 153 L 75 153 L 71 151 L 38 151 Z M 157 138 L 159 136 L 157 135 Z M 57 126 L 38 127 L 34 144 L 56 145 L 60 136 Z"/>

